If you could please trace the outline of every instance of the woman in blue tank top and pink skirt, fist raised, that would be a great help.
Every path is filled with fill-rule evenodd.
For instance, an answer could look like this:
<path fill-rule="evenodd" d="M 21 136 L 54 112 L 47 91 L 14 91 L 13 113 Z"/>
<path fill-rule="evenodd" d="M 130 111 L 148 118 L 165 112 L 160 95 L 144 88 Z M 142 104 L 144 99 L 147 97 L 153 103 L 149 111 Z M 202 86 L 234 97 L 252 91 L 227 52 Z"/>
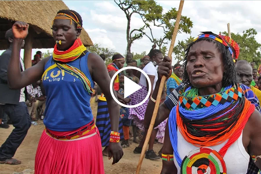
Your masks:
<path fill-rule="evenodd" d="M 112 131 L 108 152 L 109 159 L 113 156 L 112 164 L 123 156 L 118 133 L 119 105 L 110 94 L 111 79 L 104 61 L 88 52 L 79 38 L 81 16 L 73 10 L 59 10 L 52 23 L 56 41 L 53 55 L 21 72 L 19 57 L 28 28 L 21 21 L 12 26 L 13 49 L 7 75 L 12 89 L 43 80 L 46 127 L 36 152 L 35 173 L 104 174 L 101 139 L 90 107 L 94 81 L 108 102 Z M 116 95 L 115 90 L 113 93 Z"/>

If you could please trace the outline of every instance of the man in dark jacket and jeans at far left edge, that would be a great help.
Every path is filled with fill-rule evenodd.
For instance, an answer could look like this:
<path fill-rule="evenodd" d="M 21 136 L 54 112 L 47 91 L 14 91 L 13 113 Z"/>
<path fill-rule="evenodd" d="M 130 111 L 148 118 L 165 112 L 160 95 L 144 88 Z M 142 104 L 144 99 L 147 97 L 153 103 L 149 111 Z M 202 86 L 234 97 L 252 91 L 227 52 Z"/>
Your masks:
<path fill-rule="evenodd" d="M 0 108 L 7 113 L 13 123 L 14 129 L 6 141 L 0 147 L 0 163 L 20 164 L 21 161 L 12 158 L 23 142 L 28 129 L 31 126 L 31 119 L 25 104 L 27 97 L 26 88 L 13 90 L 8 87 L 7 67 L 12 53 L 13 33 L 12 29 L 6 31 L 5 38 L 9 48 L 0 56 Z M 24 42 L 23 42 L 24 43 Z M 20 58 L 21 71 L 24 70 L 23 60 Z"/>

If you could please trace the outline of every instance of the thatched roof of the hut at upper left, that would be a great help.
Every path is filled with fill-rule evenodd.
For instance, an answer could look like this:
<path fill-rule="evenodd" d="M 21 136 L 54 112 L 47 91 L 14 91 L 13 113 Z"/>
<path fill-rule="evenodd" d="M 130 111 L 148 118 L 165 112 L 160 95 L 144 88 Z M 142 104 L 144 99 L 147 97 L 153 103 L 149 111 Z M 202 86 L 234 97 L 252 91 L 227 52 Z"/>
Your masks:
<path fill-rule="evenodd" d="M 53 48 L 55 41 L 51 25 L 57 11 L 62 9 L 69 9 L 63 1 L 0 1 L 0 50 L 7 48 L 5 32 L 15 21 L 30 25 L 29 32 L 33 32 L 34 37 L 33 48 Z M 84 46 L 93 45 L 84 29 L 80 38 Z"/>

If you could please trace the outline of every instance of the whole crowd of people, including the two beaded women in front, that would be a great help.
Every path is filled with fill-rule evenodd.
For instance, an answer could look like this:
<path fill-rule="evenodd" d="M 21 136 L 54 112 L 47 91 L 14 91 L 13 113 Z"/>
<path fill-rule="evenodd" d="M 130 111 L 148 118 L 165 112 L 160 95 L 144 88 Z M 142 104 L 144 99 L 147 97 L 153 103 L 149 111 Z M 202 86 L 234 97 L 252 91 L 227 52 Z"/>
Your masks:
<path fill-rule="evenodd" d="M 43 119 L 35 173 L 104 174 L 103 156 L 119 162 L 122 148 L 130 147 L 130 128 L 137 143 L 133 153 L 141 153 L 166 76 L 145 158 L 162 158 L 161 174 L 260 172 L 261 68 L 238 60 L 240 48 L 233 39 L 203 32 L 188 45 L 184 63 L 174 66 L 155 45 L 137 60 L 130 52 L 115 54 L 106 66 L 106 55 L 82 44 L 82 25 L 74 10 L 59 10 L 52 23 L 53 55 L 42 59 L 38 51 L 27 69 L 20 50 L 29 25 L 17 21 L 6 31 L 10 46 L 0 56 L 0 127 L 9 127 L 9 117 L 14 129 L 0 147 L 1 164 L 21 163 L 13 156 L 31 122 Z M 128 66 L 142 69 L 149 81 L 127 69 L 113 79 L 113 95 L 135 105 L 149 93 L 135 108 L 119 106 L 110 93 L 111 78 Z M 125 77 L 142 87 L 126 98 Z M 98 105 L 96 120 L 91 97 Z M 163 144 L 158 154 L 155 142 Z"/>

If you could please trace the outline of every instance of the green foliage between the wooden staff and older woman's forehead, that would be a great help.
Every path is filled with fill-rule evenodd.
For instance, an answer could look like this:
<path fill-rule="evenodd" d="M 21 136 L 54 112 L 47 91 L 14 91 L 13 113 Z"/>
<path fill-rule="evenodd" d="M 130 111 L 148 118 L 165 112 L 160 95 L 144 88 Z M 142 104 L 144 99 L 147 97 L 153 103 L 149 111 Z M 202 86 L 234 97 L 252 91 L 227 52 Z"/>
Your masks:
<path fill-rule="evenodd" d="M 173 53 L 175 54 L 175 59 L 178 60 L 178 62 L 182 61 L 185 57 L 185 50 L 187 48 L 187 45 L 193 42 L 194 37 L 189 37 L 185 41 L 178 41 L 178 44 L 174 46 Z"/>

